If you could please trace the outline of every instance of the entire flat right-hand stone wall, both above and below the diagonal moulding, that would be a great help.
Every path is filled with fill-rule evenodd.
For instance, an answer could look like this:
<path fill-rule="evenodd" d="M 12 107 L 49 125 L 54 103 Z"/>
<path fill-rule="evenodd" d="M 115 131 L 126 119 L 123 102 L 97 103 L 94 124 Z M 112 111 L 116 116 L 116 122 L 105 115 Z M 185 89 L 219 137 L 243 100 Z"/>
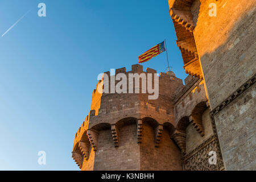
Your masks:
<path fill-rule="evenodd" d="M 217 16 L 210 17 L 209 3 Z M 216 108 L 256 73 L 255 0 L 201 1 L 193 31 L 211 109 Z M 256 169 L 255 86 L 214 116 L 225 167 Z"/>

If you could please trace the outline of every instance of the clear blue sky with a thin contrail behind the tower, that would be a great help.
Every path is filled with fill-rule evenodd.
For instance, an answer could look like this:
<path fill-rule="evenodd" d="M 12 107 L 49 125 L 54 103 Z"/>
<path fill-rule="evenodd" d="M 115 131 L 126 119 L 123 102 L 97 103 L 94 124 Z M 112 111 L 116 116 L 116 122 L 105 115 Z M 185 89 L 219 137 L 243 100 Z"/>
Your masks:
<path fill-rule="evenodd" d="M 38 16 L 40 2 L 46 17 Z M 79 170 L 73 139 L 98 74 L 130 71 L 165 38 L 172 71 L 184 79 L 168 10 L 167 0 L 1 0 L 1 35 L 28 13 L 0 36 L 0 169 Z M 166 72 L 166 53 L 142 65 Z"/>

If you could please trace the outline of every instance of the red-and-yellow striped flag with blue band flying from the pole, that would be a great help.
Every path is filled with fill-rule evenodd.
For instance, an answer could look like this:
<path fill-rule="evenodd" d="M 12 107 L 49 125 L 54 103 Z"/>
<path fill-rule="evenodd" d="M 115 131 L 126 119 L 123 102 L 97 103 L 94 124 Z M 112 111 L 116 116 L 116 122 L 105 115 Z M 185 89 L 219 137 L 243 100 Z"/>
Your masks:
<path fill-rule="evenodd" d="M 164 51 L 166 51 L 166 46 L 164 46 L 163 41 L 162 43 L 157 44 L 156 46 L 152 47 L 147 52 L 144 52 L 141 56 L 139 56 L 139 63 L 144 63 Z"/>

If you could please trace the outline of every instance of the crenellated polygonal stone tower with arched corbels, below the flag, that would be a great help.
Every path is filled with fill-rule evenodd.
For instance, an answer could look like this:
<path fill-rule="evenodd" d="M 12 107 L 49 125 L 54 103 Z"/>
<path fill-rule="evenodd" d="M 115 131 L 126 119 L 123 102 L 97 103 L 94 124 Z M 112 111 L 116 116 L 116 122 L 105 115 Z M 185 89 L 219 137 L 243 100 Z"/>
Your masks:
<path fill-rule="evenodd" d="M 129 72 L 119 68 L 117 73 L 128 78 L 129 73 L 147 76 L 156 71 L 147 68 L 144 72 L 142 65 L 136 64 Z M 183 85 L 182 80 L 173 72 L 160 73 L 156 100 L 141 93 L 142 81 L 139 93 L 101 94 L 97 88 L 102 81 L 93 90 L 90 113 L 75 136 L 72 157 L 78 166 L 82 170 L 182 170 L 180 148 L 171 139 L 175 90 Z M 131 82 L 128 80 L 127 86 Z"/>

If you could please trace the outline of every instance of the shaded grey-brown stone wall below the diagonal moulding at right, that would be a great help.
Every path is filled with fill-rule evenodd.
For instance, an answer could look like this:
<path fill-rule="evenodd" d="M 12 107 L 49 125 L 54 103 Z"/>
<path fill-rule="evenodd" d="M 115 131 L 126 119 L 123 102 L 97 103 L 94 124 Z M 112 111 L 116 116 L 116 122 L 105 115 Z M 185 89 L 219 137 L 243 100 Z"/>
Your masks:
<path fill-rule="evenodd" d="M 215 115 L 227 170 L 256 169 L 256 84 Z"/>

